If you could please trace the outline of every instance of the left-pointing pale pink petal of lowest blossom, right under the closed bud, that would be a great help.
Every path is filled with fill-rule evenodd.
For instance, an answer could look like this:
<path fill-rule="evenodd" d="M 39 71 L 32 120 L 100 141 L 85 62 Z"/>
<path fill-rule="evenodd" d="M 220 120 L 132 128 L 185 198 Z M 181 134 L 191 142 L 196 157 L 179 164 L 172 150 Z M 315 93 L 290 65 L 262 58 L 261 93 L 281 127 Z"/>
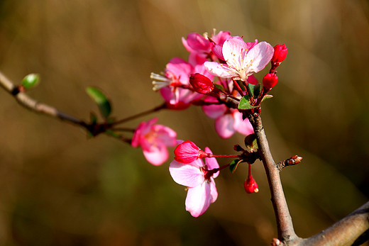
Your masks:
<path fill-rule="evenodd" d="M 172 179 L 183 186 L 195 187 L 204 182 L 204 176 L 197 165 L 183 164 L 173 160 L 170 162 L 169 172 Z"/>

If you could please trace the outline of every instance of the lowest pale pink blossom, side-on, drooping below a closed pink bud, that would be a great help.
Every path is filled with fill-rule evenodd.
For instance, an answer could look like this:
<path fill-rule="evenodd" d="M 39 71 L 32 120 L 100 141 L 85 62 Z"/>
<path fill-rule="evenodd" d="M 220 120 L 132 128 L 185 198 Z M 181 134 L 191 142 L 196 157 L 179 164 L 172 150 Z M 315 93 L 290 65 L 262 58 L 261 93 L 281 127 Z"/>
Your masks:
<path fill-rule="evenodd" d="M 209 147 L 206 152 L 211 153 Z M 214 203 L 218 197 L 214 179 L 218 177 L 218 162 L 214 157 L 195 160 L 189 164 L 183 164 L 173 160 L 170 163 L 169 171 L 172 179 L 183 186 L 188 187 L 185 201 L 186 210 L 194 217 L 201 216 L 210 203 Z M 213 171 L 211 171 L 213 170 Z"/>

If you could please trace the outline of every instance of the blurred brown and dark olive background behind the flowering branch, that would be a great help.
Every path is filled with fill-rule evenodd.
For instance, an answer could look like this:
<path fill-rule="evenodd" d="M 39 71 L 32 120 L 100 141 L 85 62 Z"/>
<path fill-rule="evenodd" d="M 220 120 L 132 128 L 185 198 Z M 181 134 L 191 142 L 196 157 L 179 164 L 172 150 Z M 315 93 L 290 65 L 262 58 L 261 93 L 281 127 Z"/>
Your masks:
<path fill-rule="evenodd" d="M 368 17 L 365 0 L 1 0 L 0 71 L 16 83 L 39 73 L 29 95 L 85 120 L 97 111 L 85 88 L 97 86 L 124 118 L 162 103 L 150 72 L 187 59 L 188 33 L 216 28 L 285 43 L 262 117 L 277 162 L 304 157 L 281 175 L 295 230 L 309 237 L 368 200 Z M 87 139 L 2 90 L 0 105 L 0 245 L 268 245 L 277 236 L 260 162 L 258 194 L 243 189 L 246 166 L 222 172 L 218 200 L 192 218 L 170 161 L 154 167 L 141 149 Z M 155 116 L 215 153 L 233 154 L 243 142 L 219 138 L 196 106 L 125 126 Z"/>

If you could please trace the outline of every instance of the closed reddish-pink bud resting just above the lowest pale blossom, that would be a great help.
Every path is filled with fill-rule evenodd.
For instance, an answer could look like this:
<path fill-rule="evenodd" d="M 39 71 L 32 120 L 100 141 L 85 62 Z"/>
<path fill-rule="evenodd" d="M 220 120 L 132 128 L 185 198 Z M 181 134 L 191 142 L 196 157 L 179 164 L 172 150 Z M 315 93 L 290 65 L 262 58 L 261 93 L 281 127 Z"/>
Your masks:
<path fill-rule="evenodd" d="M 197 147 L 192 141 L 184 141 L 175 148 L 175 160 L 184 164 L 189 164 L 208 156 L 206 152 Z"/>

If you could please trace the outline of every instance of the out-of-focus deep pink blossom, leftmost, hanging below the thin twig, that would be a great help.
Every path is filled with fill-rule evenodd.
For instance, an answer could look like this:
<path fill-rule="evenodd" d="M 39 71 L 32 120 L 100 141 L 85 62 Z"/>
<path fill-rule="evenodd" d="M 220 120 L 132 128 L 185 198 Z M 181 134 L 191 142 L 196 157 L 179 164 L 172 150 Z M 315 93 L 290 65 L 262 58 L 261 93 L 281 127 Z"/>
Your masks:
<path fill-rule="evenodd" d="M 133 134 L 132 147 L 142 147 L 146 160 L 155 166 L 163 164 L 168 157 L 167 146 L 177 145 L 177 133 L 165 125 L 155 125 L 158 118 L 142 122 Z"/>

